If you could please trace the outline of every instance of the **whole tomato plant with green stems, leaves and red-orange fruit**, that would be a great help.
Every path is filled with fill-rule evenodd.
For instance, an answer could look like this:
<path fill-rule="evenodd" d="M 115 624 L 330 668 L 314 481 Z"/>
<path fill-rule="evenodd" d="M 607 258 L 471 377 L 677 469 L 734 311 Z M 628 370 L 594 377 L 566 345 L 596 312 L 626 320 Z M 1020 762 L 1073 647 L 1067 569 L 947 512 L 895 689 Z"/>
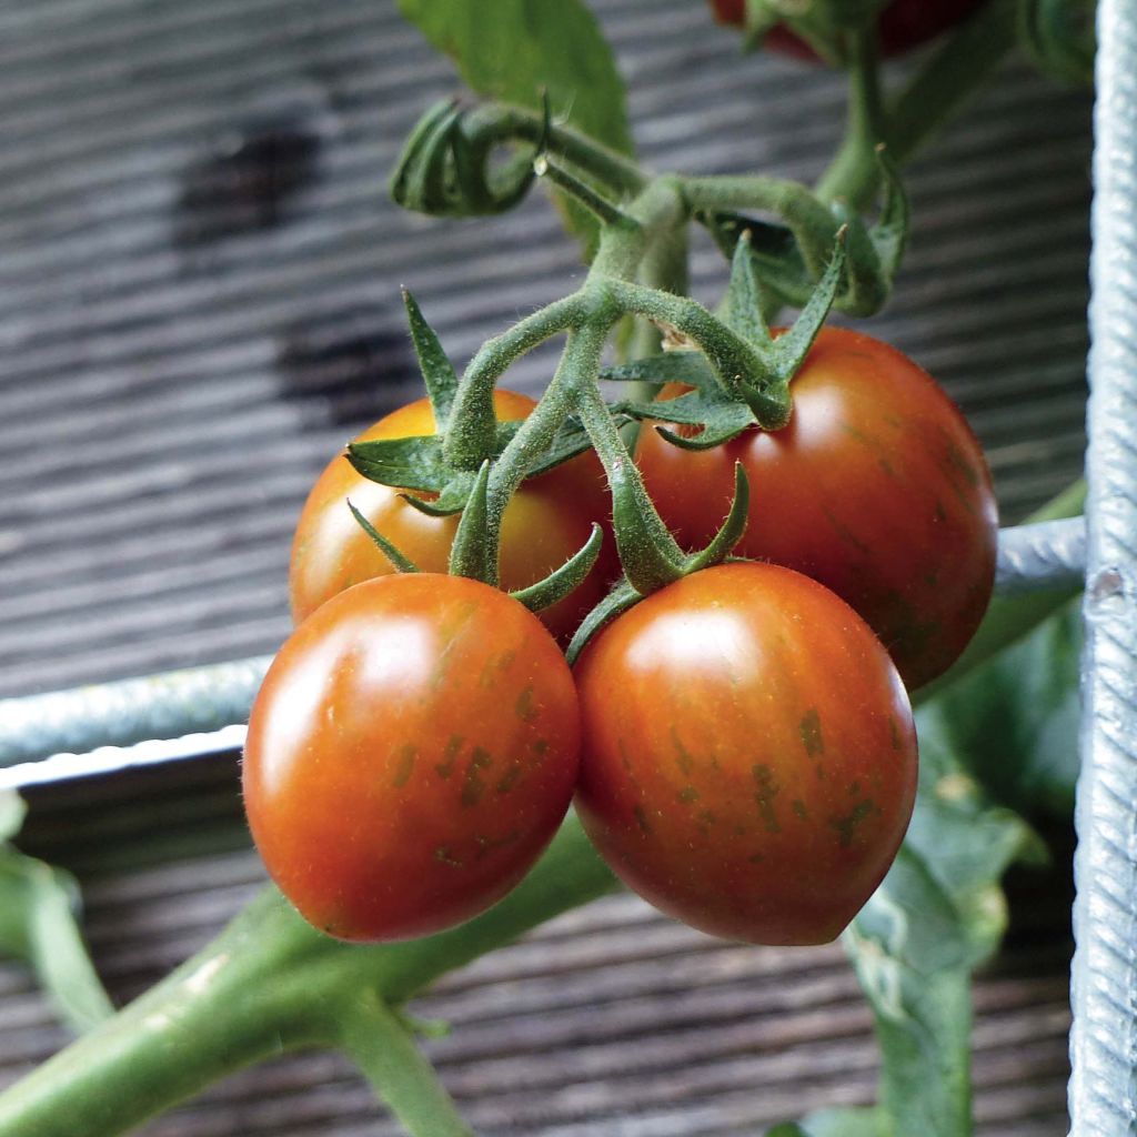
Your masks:
<path fill-rule="evenodd" d="M 296 536 L 299 626 L 252 708 L 242 774 L 249 823 L 280 889 L 265 889 L 134 1006 L 0 1094 L 0 1134 L 76 1137 L 76 1119 L 93 1119 L 99 1137 L 111 1137 L 234 1068 L 329 1046 L 410 1132 L 468 1137 L 402 1007 L 446 972 L 612 887 L 582 827 L 633 888 L 706 931 L 807 944 L 853 920 L 846 945 L 881 1041 L 879 1102 L 771 1132 L 971 1131 L 971 972 L 1005 927 L 1003 871 L 1037 850 L 1026 825 L 985 795 L 981 766 L 963 753 L 968 732 L 949 729 L 958 724 L 946 721 L 943 697 L 924 707 L 924 791 L 913 805 L 916 745 L 902 675 L 918 687 L 943 671 L 979 621 L 995 548 L 991 483 L 966 424 L 927 374 L 868 337 L 818 332 L 835 304 L 860 316 L 885 302 L 908 226 L 896 167 L 1030 19 L 1039 58 L 1055 70 L 1069 64 L 1048 55 L 1071 15 L 1063 7 L 984 5 L 895 93 L 880 82 L 871 36 L 849 38 L 846 136 L 810 186 L 762 171 L 641 167 L 612 53 L 578 0 L 542 6 L 537 24 L 521 18 L 526 6 L 400 0 L 462 75 L 501 102 L 447 98 L 430 108 L 407 139 L 392 196 L 422 213 L 483 218 L 545 179 L 573 206 L 565 216 L 588 268 L 566 294 L 495 329 L 460 379 L 406 296 L 426 390 L 450 420 L 446 437 L 364 448 L 352 460 L 438 493 L 462 520 L 424 516 L 398 489 L 332 463 Z M 740 13 L 725 0 L 717 8 Z M 898 45 L 891 22 L 902 10 L 940 27 L 965 9 L 897 0 L 882 16 L 883 47 Z M 800 10 L 795 26 L 816 28 L 820 43 L 839 6 Z M 932 34 L 932 24 L 921 27 L 904 34 Z M 534 107 L 541 90 L 548 98 Z M 800 116 L 811 128 L 823 126 L 816 107 Z M 735 117 L 753 126 L 745 108 Z M 887 155 L 875 148 L 881 138 Z M 862 217 L 878 186 L 880 209 Z M 714 309 L 689 294 L 695 225 L 730 260 Z M 761 318 L 770 296 L 800 308 L 794 334 L 777 341 Z M 657 332 L 697 354 L 659 355 Z M 563 350 L 539 402 L 496 390 L 555 339 Z M 609 367 L 614 348 L 620 362 Z M 601 382 L 664 379 L 695 383 L 698 395 L 667 408 L 644 402 L 634 385 L 608 402 Z M 524 425 L 500 430 L 495 408 Z M 632 462 L 624 428 L 645 416 L 680 424 L 687 448 L 648 424 L 640 465 Z M 730 441 L 697 450 L 699 431 L 708 443 Z M 434 433 L 423 400 L 363 438 Z M 586 437 L 595 456 L 526 480 Z M 609 513 L 597 459 L 623 579 L 600 597 L 608 561 L 564 601 L 563 620 L 557 608 L 546 617 L 563 641 L 592 609 L 587 629 L 599 631 L 574 678 L 549 630 L 480 581 L 496 581 L 500 563 L 506 589 L 525 587 L 586 543 L 590 523 Z M 349 498 L 417 567 L 456 575 L 413 572 L 393 550 L 407 572 L 392 573 L 382 538 L 357 524 Z M 756 559 L 723 564 L 747 516 L 739 551 Z M 564 596 L 595 548 L 539 582 L 528 603 Z M 1048 587 L 1001 598 L 980 652 L 1021 637 L 1063 595 Z M 1021 683 L 1020 657 L 1001 663 Z M 990 675 L 974 681 L 994 689 Z M 1035 679 L 1047 697 L 1059 688 L 1045 667 Z M 972 737 L 985 725 L 976 720 Z M 998 760 L 1026 765 L 1029 731 L 1011 725 Z M 561 824 L 574 786 L 579 820 Z"/>

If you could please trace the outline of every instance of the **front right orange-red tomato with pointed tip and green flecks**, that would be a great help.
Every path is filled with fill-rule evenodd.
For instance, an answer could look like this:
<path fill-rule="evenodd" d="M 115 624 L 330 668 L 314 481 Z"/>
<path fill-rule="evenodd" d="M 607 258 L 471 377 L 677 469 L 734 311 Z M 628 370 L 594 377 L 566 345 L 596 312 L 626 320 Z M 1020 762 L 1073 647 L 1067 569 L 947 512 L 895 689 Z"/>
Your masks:
<path fill-rule="evenodd" d="M 576 812 L 631 888 L 730 939 L 840 933 L 916 786 L 904 687 L 846 604 L 787 568 L 721 565 L 620 616 L 575 675 Z"/>

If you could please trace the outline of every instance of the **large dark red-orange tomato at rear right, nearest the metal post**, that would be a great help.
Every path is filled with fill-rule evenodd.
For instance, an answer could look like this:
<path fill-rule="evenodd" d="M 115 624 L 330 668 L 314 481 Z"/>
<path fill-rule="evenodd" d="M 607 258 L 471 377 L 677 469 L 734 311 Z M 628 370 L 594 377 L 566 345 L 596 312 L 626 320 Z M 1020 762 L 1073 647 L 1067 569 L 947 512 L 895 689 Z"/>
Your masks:
<path fill-rule="evenodd" d="M 646 426 L 637 462 L 648 492 L 696 548 L 722 522 L 741 462 L 752 499 L 738 555 L 837 592 L 914 690 L 960 655 L 990 599 L 998 520 L 982 450 L 927 372 L 857 332 L 824 329 L 790 390 L 783 430 L 709 450 Z"/>

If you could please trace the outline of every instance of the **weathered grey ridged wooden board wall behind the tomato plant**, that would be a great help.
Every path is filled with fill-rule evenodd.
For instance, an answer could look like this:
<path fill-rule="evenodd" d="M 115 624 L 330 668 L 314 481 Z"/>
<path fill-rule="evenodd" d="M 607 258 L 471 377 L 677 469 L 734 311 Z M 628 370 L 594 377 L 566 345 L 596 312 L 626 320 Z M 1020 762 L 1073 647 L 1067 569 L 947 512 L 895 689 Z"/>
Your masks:
<path fill-rule="evenodd" d="M 699 0 L 594 7 L 652 165 L 820 172 L 839 78 L 739 56 Z M 414 390 L 398 285 L 462 362 L 579 273 L 540 194 L 471 223 L 387 202 L 401 139 L 454 89 L 393 0 L 0 2 L 0 696 L 274 650 L 307 485 Z M 965 407 L 1009 520 L 1080 468 L 1089 153 L 1088 96 L 1007 68 L 912 167 L 912 250 L 868 325 Z M 694 272 L 713 298 L 706 243 Z M 534 389 L 548 367 L 538 355 L 512 379 Z M 234 756 L 31 802 L 27 847 L 80 874 L 119 999 L 262 880 Z M 979 985 L 990 1137 L 1064 1131 L 1068 898 L 1061 873 L 1023 879 Z M 625 896 L 418 1010 L 455 1024 L 431 1049 L 489 1135 L 750 1135 L 873 1090 L 839 949 L 715 943 Z M 64 1040 L 23 970 L 0 969 L 0 1081 Z M 234 1077 L 147 1132 L 396 1129 L 316 1055 Z"/>

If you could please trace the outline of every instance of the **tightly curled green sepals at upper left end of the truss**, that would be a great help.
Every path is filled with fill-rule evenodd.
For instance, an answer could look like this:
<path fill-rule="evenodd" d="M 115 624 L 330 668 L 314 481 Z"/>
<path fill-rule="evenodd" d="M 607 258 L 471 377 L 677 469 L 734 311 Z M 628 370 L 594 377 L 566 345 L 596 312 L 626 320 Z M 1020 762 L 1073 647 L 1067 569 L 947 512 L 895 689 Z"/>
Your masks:
<path fill-rule="evenodd" d="M 545 150 L 548 107 L 537 142 Z M 505 131 L 503 126 L 505 125 Z M 501 108 L 464 107 L 448 100 L 420 121 L 399 156 L 391 197 L 405 209 L 435 217 L 480 217 L 512 209 L 533 184 L 533 151 L 495 163 L 495 150 L 508 141 L 511 123 Z M 526 118 L 523 125 L 529 125 Z"/>

